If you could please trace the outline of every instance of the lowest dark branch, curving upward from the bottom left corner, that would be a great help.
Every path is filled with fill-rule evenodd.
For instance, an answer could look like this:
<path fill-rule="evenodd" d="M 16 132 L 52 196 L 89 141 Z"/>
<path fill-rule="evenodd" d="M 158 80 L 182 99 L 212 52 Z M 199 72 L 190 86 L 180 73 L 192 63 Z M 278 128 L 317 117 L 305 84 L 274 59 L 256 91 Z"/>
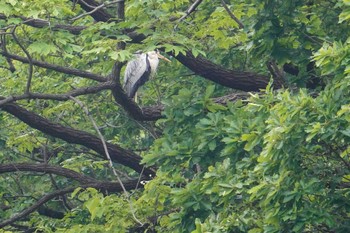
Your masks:
<path fill-rule="evenodd" d="M 125 188 L 128 190 L 131 190 L 136 187 L 138 180 L 132 180 L 132 181 L 125 181 L 123 182 Z M 81 185 L 81 186 L 76 186 L 76 187 L 69 187 L 61 190 L 54 191 L 52 193 L 49 193 L 42 198 L 40 198 L 34 205 L 31 207 L 25 209 L 24 211 L 12 216 L 11 218 L 0 222 L 0 228 L 5 227 L 11 223 L 14 223 L 17 220 L 22 219 L 23 217 L 28 216 L 29 214 L 33 213 L 35 210 L 37 210 L 40 206 L 45 204 L 46 202 L 50 201 L 51 199 L 61 196 L 67 193 L 73 192 L 76 188 L 96 188 L 104 191 L 109 191 L 109 192 L 120 192 L 122 191 L 122 188 L 120 187 L 119 183 L 116 182 L 98 182 L 98 183 L 92 183 L 92 184 L 86 184 L 86 185 Z"/>

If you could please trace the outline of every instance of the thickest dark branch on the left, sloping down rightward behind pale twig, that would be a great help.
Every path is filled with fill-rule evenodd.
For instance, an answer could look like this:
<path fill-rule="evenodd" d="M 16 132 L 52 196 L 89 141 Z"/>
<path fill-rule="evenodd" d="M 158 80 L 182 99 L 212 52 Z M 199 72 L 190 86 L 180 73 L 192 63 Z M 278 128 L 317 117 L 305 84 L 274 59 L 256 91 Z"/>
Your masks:
<path fill-rule="evenodd" d="M 5 104 L 0 106 L 0 108 L 23 121 L 30 127 L 45 134 L 60 138 L 69 143 L 85 146 L 101 155 L 105 155 L 101 140 L 95 135 L 50 122 L 38 114 L 30 112 L 14 103 Z M 106 144 L 113 161 L 130 167 L 139 173 L 143 171 L 147 176 L 154 176 L 155 171 L 152 168 L 145 168 L 143 170 L 143 165 L 140 164 L 141 158 L 138 155 L 125 150 L 118 145 L 111 143 Z"/>

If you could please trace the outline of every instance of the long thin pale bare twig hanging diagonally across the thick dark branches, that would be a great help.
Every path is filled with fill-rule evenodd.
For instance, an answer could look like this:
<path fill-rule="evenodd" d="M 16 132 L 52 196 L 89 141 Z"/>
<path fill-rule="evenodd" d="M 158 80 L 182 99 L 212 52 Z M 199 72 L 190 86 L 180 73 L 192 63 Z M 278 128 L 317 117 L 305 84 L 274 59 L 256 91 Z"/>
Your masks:
<path fill-rule="evenodd" d="M 113 172 L 114 176 L 117 178 L 117 180 L 118 180 L 120 186 L 122 187 L 125 196 L 127 197 L 127 200 L 128 200 L 128 202 L 129 202 L 129 206 L 130 206 L 131 214 L 132 214 L 134 220 L 135 220 L 138 224 L 140 224 L 141 226 L 143 226 L 143 223 L 142 223 L 142 222 L 136 217 L 136 215 L 135 215 L 135 210 L 134 210 L 134 207 L 133 207 L 133 205 L 132 205 L 132 203 L 131 203 L 131 200 L 129 199 L 129 193 L 128 193 L 128 191 L 125 189 L 122 180 L 119 178 L 119 175 L 118 175 L 117 171 L 116 171 L 116 170 L 114 169 L 114 167 L 113 167 L 113 162 L 112 162 L 111 156 L 109 155 L 106 141 L 105 141 L 105 139 L 104 139 L 104 137 L 103 137 L 101 131 L 99 130 L 99 128 L 98 128 L 98 126 L 97 126 L 97 124 L 96 124 L 94 118 L 92 117 L 92 115 L 90 114 L 88 108 L 84 105 L 83 102 L 81 102 L 80 100 L 74 98 L 73 96 L 70 96 L 70 99 L 72 99 L 75 103 L 77 103 L 77 104 L 84 110 L 85 114 L 87 115 L 87 117 L 88 117 L 89 120 L 91 121 L 92 125 L 94 126 L 96 132 L 98 133 L 98 135 L 99 135 L 99 137 L 100 137 L 100 139 L 101 139 L 101 142 L 102 142 L 102 145 L 103 145 L 103 149 L 104 149 L 104 151 L 105 151 L 107 160 L 108 160 L 108 162 L 109 162 L 109 166 L 110 166 L 110 168 L 112 169 L 112 172 Z"/>

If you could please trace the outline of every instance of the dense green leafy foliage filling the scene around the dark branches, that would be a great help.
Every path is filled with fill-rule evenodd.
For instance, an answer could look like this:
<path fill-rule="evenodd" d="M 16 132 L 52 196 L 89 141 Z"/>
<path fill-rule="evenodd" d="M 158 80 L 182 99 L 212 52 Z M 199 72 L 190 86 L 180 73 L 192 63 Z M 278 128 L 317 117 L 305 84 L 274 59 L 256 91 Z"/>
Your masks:
<path fill-rule="evenodd" d="M 156 176 L 128 196 L 95 188 L 57 195 L 42 207 L 64 216 L 52 218 L 40 207 L 0 232 L 21 226 L 38 232 L 350 232 L 349 0 L 226 0 L 243 29 L 219 0 L 203 1 L 181 21 L 194 1 L 129 0 L 125 20 L 108 22 L 90 15 L 71 20 L 85 12 L 73 2 L 0 2 L 0 96 L 23 94 L 31 72 L 3 51 L 103 76 L 139 49 L 172 54 L 172 63 L 160 62 L 156 78 L 140 90 L 140 106 L 165 106 L 155 122 L 133 119 L 110 91 L 76 97 L 89 115 L 71 99 L 16 101 L 51 122 L 97 135 L 92 116 L 107 142 L 140 154 L 143 164 L 157 168 Z M 117 18 L 115 7 L 105 10 Z M 28 25 L 29 18 L 50 25 Z M 73 34 L 58 24 L 87 28 Z M 125 33 L 130 28 L 146 38 L 134 43 Z M 126 48 L 116 49 L 118 42 Z M 275 90 L 271 81 L 247 99 L 222 105 L 214 99 L 233 90 L 176 61 L 189 52 L 223 69 L 264 74 L 273 60 L 285 67 L 286 87 Z M 96 83 L 34 65 L 30 89 L 62 94 Z M 1 164 L 48 163 L 116 180 L 104 154 L 5 111 L 0 124 Z M 125 181 L 139 177 L 114 165 Z M 50 172 L 0 171 L 0 222 L 48 193 L 80 186 Z"/>

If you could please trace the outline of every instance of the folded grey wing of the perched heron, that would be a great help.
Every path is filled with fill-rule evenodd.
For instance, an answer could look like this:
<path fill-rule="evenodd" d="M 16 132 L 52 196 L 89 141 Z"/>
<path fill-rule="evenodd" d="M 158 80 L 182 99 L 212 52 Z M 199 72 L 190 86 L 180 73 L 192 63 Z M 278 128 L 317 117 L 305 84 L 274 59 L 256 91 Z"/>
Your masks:
<path fill-rule="evenodd" d="M 142 85 L 144 75 L 149 73 L 149 63 L 146 54 L 137 55 L 136 59 L 128 62 L 124 74 L 124 89 L 127 95 L 134 97 L 137 89 Z"/>

